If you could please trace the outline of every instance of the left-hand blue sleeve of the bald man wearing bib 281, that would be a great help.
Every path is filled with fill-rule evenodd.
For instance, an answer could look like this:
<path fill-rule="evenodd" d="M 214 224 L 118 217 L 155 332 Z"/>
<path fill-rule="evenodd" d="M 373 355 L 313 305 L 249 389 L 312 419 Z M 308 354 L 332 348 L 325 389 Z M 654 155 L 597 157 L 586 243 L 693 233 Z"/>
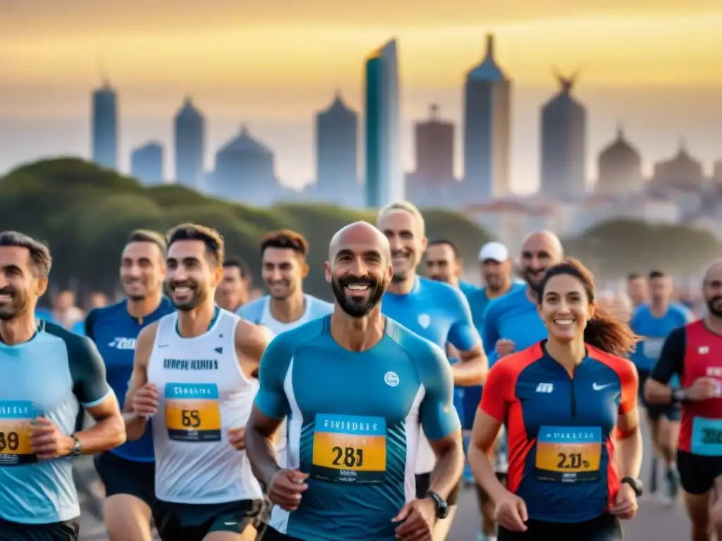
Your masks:
<path fill-rule="evenodd" d="M 258 368 L 260 387 L 256 393 L 256 406 L 261 413 L 274 419 L 282 419 L 290 411 L 290 405 L 283 388 L 293 356 L 286 335 L 279 335 L 269 343 Z"/>

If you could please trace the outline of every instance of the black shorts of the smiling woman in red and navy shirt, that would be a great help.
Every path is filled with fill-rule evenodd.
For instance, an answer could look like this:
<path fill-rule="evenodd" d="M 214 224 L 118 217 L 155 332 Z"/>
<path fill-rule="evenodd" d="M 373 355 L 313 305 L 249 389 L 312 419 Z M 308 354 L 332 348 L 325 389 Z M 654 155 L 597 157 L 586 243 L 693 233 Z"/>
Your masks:
<path fill-rule="evenodd" d="M 499 527 L 499 541 L 618 541 L 624 539 L 622 523 L 616 516 L 604 514 L 586 522 L 569 524 L 529 520 L 526 532 L 511 532 Z"/>

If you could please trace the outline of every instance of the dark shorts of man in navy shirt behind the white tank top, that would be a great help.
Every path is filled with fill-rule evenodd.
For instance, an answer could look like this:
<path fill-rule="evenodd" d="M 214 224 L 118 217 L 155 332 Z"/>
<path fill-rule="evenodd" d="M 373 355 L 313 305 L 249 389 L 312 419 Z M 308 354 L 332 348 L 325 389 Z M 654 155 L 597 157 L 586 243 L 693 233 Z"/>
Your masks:
<path fill-rule="evenodd" d="M 133 462 L 105 452 L 93 459 L 97 475 L 105 485 L 105 497 L 129 494 L 150 508 L 155 503 L 155 462 Z"/>

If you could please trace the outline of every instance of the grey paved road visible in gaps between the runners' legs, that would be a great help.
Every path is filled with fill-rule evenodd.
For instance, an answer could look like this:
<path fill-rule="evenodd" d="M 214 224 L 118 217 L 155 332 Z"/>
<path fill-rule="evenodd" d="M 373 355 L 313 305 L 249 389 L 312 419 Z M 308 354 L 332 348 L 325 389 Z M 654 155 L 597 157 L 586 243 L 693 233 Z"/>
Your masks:
<path fill-rule="evenodd" d="M 650 444 L 645 434 L 645 466 L 649 464 Z M 643 480 L 648 480 L 647 468 L 643 468 Z M 102 488 L 96 485 L 94 490 L 100 494 Z M 92 519 L 90 513 L 82 517 L 81 541 L 107 541 L 103 525 Z M 449 541 L 475 541 L 479 531 L 479 511 L 473 488 L 466 488 L 461 494 Z M 671 507 L 661 501 L 643 496 L 640 511 L 634 520 L 625 523 L 627 541 L 684 541 L 690 539 L 687 517 L 682 503 Z"/>

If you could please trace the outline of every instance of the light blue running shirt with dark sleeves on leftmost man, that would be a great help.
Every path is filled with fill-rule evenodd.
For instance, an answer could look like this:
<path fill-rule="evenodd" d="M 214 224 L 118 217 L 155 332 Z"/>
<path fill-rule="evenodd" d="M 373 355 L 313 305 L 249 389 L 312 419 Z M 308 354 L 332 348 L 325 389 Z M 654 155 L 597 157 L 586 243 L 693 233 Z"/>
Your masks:
<path fill-rule="evenodd" d="M 72 459 L 40 460 L 30 444 L 30 421 L 45 417 L 69 436 L 81 406 L 92 408 L 113 390 L 91 340 L 38 321 L 27 342 L 0 342 L 0 518 L 51 524 L 80 515 Z"/>

